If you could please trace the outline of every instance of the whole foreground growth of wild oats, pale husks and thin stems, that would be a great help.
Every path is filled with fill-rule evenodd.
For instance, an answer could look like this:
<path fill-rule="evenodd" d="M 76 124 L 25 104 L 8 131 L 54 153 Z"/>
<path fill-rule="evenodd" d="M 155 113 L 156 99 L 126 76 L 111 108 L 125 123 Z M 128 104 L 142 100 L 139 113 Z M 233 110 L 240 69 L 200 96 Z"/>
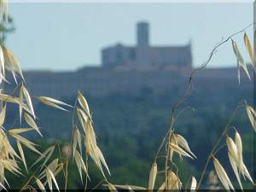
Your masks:
<path fill-rule="evenodd" d="M 3 24 L 8 18 L 8 3 L 5 0 L 0 0 L 0 12 L 1 20 Z M 250 25 L 252 26 L 252 25 Z M 178 160 L 183 158 L 189 158 L 196 160 L 196 154 L 189 148 L 189 142 L 184 138 L 175 127 L 175 121 L 179 115 L 182 115 L 180 106 L 186 101 L 192 91 L 191 82 L 195 73 L 202 70 L 207 66 L 212 56 L 216 53 L 219 46 L 230 42 L 232 49 L 236 56 L 237 61 L 237 78 L 240 84 L 241 72 L 247 75 L 248 79 L 251 79 L 247 69 L 247 64 L 244 61 L 236 42 L 232 37 L 236 34 L 244 32 L 244 44 L 247 49 L 247 53 L 253 69 L 256 71 L 256 63 L 253 60 L 253 48 L 247 37 L 247 26 L 240 32 L 236 32 L 230 37 L 222 40 L 221 43 L 216 45 L 212 49 L 211 54 L 206 62 L 201 66 L 195 68 L 189 77 L 188 88 L 184 95 L 172 108 L 170 125 L 167 128 L 166 136 L 163 137 L 160 142 L 160 147 L 155 152 L 154 162 L 150 172 L 148 172 L 148 186 L 135 186 L 132 183 L 112 183 L 111 182 L 111 170 L 108 169 L 107 160 L 104 158 L 100 146 L 97 144 L 96 132 L 93 128 L 93 119 L 90 112 L 89 104 L 86 101 L 85 96 L 78 91 L 76 100 L 73 105 L 65 102 L 58 101 L 48 96 L 37 96 L 38 102 L 42 102 L 51 108 L 57 108 L 62 110 L 63 113 L 72 113 L 72 125 L 71 132 L 72 137 L 70 143 L 63 148 L 59 148 L 58 143 L 49 146 L 44 151 L 40 150 L 40 146 L 37 143 L 32 143 L 28 138 L 24 137 L 27 132 L 35 131 L 39 136 L 44 137 L 41 133 L 41 127 L 37 125 L 37 113 L 34 111 L 32 96 L 26 88 L 26 80 L 22 75 L 19 61 L 15 58 L 15 55 L 5 46 L 0 46 L 0 83 L 1 83 L 1 110 L 0 110 L 0 187 L 7 190 L 12 189 L 12 183 L 9 183 L 6 172 L 10 172 L 14 176 L 23 177 L 21 167 L 24 166 L 26 172 L 30 173 L 31 177 L 27 178 L 26 183 L 20 186 L 20 191 L 23 190 L 46 190 L 57 189 L 59 187 L 59 178 L 64 176 L 65 187 L 68 188 L 68 166 L 75 164 L 77 166 L 77 174 L 79 174 L 80 182 L 83 183 L 84 189 L 88 189 L 87 185 L 90 182 L 90 167 L 89 160 L 94 162 L 99 172 L 102 174 L 102 181 L 95 186 L 96 188 L 106 188 L 110 190 L 127 189 L 129 191 L 137 189 L 145 189 L 152 191 L 153 189 L 166 190 L 166 189 L 189 189 L 197 190 L 204 189 L 201 184 L 206 179 L 206 172 L 210 163 L 213 164 L 215 171 L 210 172 L 208 176 L 210 184 L 207 189 L 227 189 L 235 190 L 234 183 L 238 183 L 239 189 L 244 189 L 242 186 L 242 179 L 247 179 L 254 186 L 253 177 L 250 175 L 250 168 L 247 167 L 243 160 L 243 143 L 241 141 L 241 135 L 239 130 L 242 127 L 235 127 L 232 125 L 233 119 L 236 117 L 238 110 L 244 109 L 247 113 L 248 121 L 253 127 L 253 131 L 256 131 L 256 113 L 252 105 L 246 101 L 238 103 L 234 109 L 229 121 L 224 125 L 223 131 L 218 137 L 218 141 L 212 146 L 212 151 L 208 155 L 207 162 L 201 172 L 201 177 L 194 177 L 191 175 L 189 181 L 183 181 L 179 178 L 177 162 L 174 160 L 174 155 L 179 157 Z M 15 79 L 16 87 L 12 93 L 7 94 L 4 90 L 4 84 L 9 84 L 6 79 L 6 73 L 11 73 Z M 17 117 L 19 123 L 6 127 L 6 110 L 9 103 L 14 103 L 18 106 Z M 22 124 L 21 124 L 22 123 Z M 63 122 L 60 122 L 63 123 Z M 25 127 L 20 125 L 26 124 Z M 249 143 L 253 145 L 253 143 Z M 203 145 L 203 143 L 202 143 Z M 32 165 L 28 165 L 26 162 L 26 153 L 24 148 L 28 148 L 33 153 L 38 154 L 38 160 Z M 58 151 L 59 157 L 52 160 L 52 154 Z M 231 180 L 230 176 L 226 172 L 226 168 L 222 166 L 222 163 L 217 159 L 219 150 L 226 150 L 226 155 L 230 160 L 230 166 L 236 176 L 236 180 Z M 148 151 L 148 153 L 154 153 Z M 253 158 L 253 157 L 252 157 Z M 217 182 L 218 177 L 218 182 Z M 157 186 L 156 180 L 160 180 L 160 186 Z"/>

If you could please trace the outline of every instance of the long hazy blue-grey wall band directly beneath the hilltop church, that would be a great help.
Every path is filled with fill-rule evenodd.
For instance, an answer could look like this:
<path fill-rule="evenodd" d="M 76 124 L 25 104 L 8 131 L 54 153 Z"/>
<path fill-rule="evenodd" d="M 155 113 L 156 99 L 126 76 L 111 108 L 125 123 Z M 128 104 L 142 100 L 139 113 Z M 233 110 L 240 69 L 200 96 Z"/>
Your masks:
<path fill-rule="evenodd" d="M 152 90 L 154 95 L 165 96 L 175 92 L 182 95 L 187 87 L 189 68 L 148 67 L 134 70 L 119 67 L 84 67 L 74 72 L 25 72 L 26 86 L 32 96 L 51 96 L 56 99 L 73 97 L 80 90 L 85 96 L 104 97 L 113 94 L 140 95 L 143 90 Z M 253 70 L 251 70 L 253 72 Z M 246 81 L 244 73 L 242 79 Z M 9 78 L 11 79 L 11 78 Z M 210 68 L 196 73 L 193 84 L 197 89 L 218 93 L 236 90 L 238 87 L 236 67 Z M 15 82 L 12 82 L 15 85 Z M 242 84 L 242 87 L 252 84 Z M 216 91 L 218 87 L 218 91 Z M 15 87 L 11 87 L 11 92 Z M 240 88 L 241 89 L 241 85 Z M 253 94 L 253 93 L 252 93 Z"/>

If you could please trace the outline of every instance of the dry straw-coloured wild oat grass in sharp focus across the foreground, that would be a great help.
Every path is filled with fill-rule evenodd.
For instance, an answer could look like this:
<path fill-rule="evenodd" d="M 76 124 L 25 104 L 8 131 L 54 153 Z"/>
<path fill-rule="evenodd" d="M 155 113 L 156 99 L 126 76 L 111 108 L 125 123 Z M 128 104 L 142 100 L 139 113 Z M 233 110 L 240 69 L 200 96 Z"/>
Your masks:
<path fill-rule="evenodd" d="M 8 3 L 5 0 L 0 0 L 0 20 L 6 19 L 8 16 Z M 241 32 L 243 32 L 242 30 Z M 239 32 L 231 35 L 229 38 L 218 44 L 213 50 L 209 57 L 209 60 L 201 65 L 200 67 L 196 68 L 193 73 L 191 73 L 190 79 L 189 79 L 189 87 L 184 95 L 184 97 L 177 102 L 177 104 L 172 108 L 172 117 L 171 117 L 171 125 L 166 133 L 166 136 L 163 138 L 162 143 L 160 144 L 160 148 L 155 156 L 154 163 L 151 167 L 151 170 L 149 172 L 148 176 L 148 186 L 147 188 L 142 186 L 135 186 L 135 185 L 121 185 L 121 184 L 113 184 L 108 181 L 108 177 L 105 175 L 105 172 L 108 172 L 108 175 L 110 176 L 110 171 L 108 169 L 108 164 L 104 158 L 104 155 L 102 154 L 102 150 L 99 148 L 99 146 L 96 143 L 96 133 L 93 128 L 93 121 L 92 116 L 90 114 L 90 108 L 88 105 L 88 102 L 86 101 L 85 97 L 82 95 L 80 91 L 78 91 L 77 98 L 75 104 L 69 105 L 65 102 L 61 102 L 59 100 L 56 100 L 54 98 L 50 98 L 48 96 L 37 96 L 38 100 L 42 102 L 45 105 L 48 105 L 51 108 L 57 108 L 63 111 L 68 111 L 68 109 L 73 111 L 73 131 L 72 131 L 72 138 L 70 141 L 70 144 L 68 144 L 63 149 L 63 156 L 65 157 L 65 160 L 62 162 L 58 158 L 55 158 L 51 162 L 49 160 L 52 158 L 52 154 L 55 151 L 55 146 L 50 146 L 47 148 L 43 153 L 40 152 L 38 149 L 38 145 L 36 143 L 32 143 L 29 139 L 26 137 L 22 137 L 22 133 L 29 132 L 29 131 L 36 131 L 40 136 L 42 136 L 40 129 L 36 123 L 36 114 L 32 105 L 32 99 L 29 91 L 26 89 L 26 86 L 24 85 L 24 77 L 22 75 L 22 71 L 20 68 L 20 64 L 18 60 L 15 58 L 15 55 L 7 49 L 5 46 L 0 46 L 0 79 L 1 82 L 8 82 L 6 77 L 6 70 L 9 70 L 10 73 L 12 73 L 13 78 L 15 79 L 15 82 L 17 84 L 17 88 L 20 88 L 19 90 L 19 96 L 13 96 L 3 93 L 3 91 L 0 93 L 0 100 L 4 103 L 4 107 L 0 111 L 0 189 L 5 189 L 6 186 L 11 188 L 9 186 L 9 183 L 5 177 L 6 171 L 11 172 L 14 175 L 22 176 L 22 172 L 20 171 L 20 161 L 26 168 L 26 172 L 31 172 L 32 168 L 35 167 L 35 165 L 38 165 L 36 168 L 36 171 L 32 174 L 32 177 L 30 177 L 27 181 L 27 183 L 21 187 L 21 190 L 24 189 L 41 189 L 45 191 L 46 189 L 58 189 L 59 186 L 57 183 L 57 176 L 61 173 L 63 173 L 65 177 L 65 189 L 67 189 L 67 179 L 68 179 L 68 165 L 70 163 L 69 158 L 70 156 L 73 157 L 73 163 L 76 164 L 78 167 L 79 176 L 81 179 L 81 183 L 84 183 L 84 179 L 87 183 L 87 179 L 90 179 L 89 175 L 89 167 L 88 167 L 88 157 L 90 157 L 91 160 L 94 161 L 96 167 L 100 172 L 102 172 L 103 177 L 103 186 L 108 187 L 108 189 L 117 191 L 118 189 L 127 189 L 129 191 L 138 190 L 138 189 L 149 189 L 152 191 L 153 189 L 158 189 L 159 191 L 162 191 L 164 189 L 175 189 L 180 190 L 183 188 L 183 183 L 181 179 L 178 177 L 178 167 L 176 165 L 176 162 L 174 162 L 174 155 L 178 155 L 180 157 L 180 160 L 182 160 L 182 157 L 189 157 L 191 159 L 196 159 L 195 154 L 192 152 L 192 150 L 189 148 L 188 141 L 181 136 L 180 134 L 177 134 L 174 129 L 174 122 L 175 122 L 175 110 L 180 106 L 185 99 L 189 96 L 190 89 L 191 89 L 191 79 L 195 71 L 198 71 L 204 67 L 207 66 L 207 63 L 211 60 L 212 55 L 216 51 L 216 49 L 230 40 L 233 36 L 238 34 Z M 232 42 L 232 47 L 234 50 L 234 53 L 236 55 L 237 60 L 237 70 L 238 70 L 238 80 L 240 83 L 240 70 L 242 69 L 246 74 L 248 79 L 250 79 L 250 75 L 247 71 L 247 66 L 245 61 L 243 60 L 241 53 L 236 45 L 236 42 L 234 40 Z M 253 49 L 250 44 L 249 38 L 247 37 L 247 34 L 244 34 L 244 44 L 246 46 L 248 55 L 250 57 L 250 60 L 252 61 L 254 70 L 255 65 L 253 62 Z M 21 82 L 18 84 L 16 76 L 20 77 Z M 6 116 L 6 110 L 7 110 L 7 103 L 12 102 L 19 106 L 19 117 L 20 117 L 20 123 L 23 120 L 26 121 L 26 124 L 28 127 L 20 127 L 20 128 L 9 128 L 8 131 L 4 128 L 5 123 L 5 116 Z M 254 109 L 249 106 L 247 103 L 243 103 L 243 106 L 246 108 L 247 116 L 250 121 L 250 123 L 253 125 L 253 130 L 256 131 L 255 128 L 255 122 L 256 122 L 256 113 Z M 240 108 L 240 106 L 239 106 Z M 238 109 L 238 108 L 236 108 Z M 236 110 L 234 111 L 233 115 L 236 113 Z M 232 115 L 232 117 L 233 117 Z M 78 119 L 75 120 L 75 119 Z M 215 167 L 215 171 L 217 173 L 219 181 L 224 186 L 224 189 L 227 190 L 233 190 L 234 187 L 230 181 L 230 177 L 228 177 L 227 173 L 224 170 L 224 167 L 221 166 L 219 161 L 214 157 L 215 154 L 218 153 L 218 147 L 219 143 L 222 139 L 224 139 L 224 136 L 226 138 L 226 146 L 228 148 L 227 156 L 230 159 L 230 165 L 236 175 L 236 180 L 239 183 L 239 186 L 241 189 L 243 189 L 241 184 L 241 175 L 243 177 L 247 177 L 247 179 L 253 183 L 253 178 L 250 176 L 247 167 L 244 165 L 243 157 L 242 157 L 242 143 L 241 143 L 241 136 L 236 131 L 235 134 L 235 142 L 231 137 L 229 137 L 226 133 L 230 127 L 231 119 L 228 122 L 228 124 L 224 127 L 224 131 L 221 133 L 220 137 L 218 138 L 217 143 L 213 146 L 212 152 L 209 154 L 207 163 L 204 167 L 204 171 L 201 173 L 201 178 L 199 180 L 199 183 L 197 183 L 195 177 L 191 177 L 191 181 L 189 184 L 190 190 L 196 190 L 200 189 L 201 187 L 201 181 L 207 171 L 207 166 L 210 160 L 213 161 L 213 165 Z M 9 138 L 12 137 L 15 139 L 15 142 L 17 144 L 17 152 L 13 148 L 12 144 L 9 142 Z M 43 137 L 43 136 L 42 136 Z M 23 148 L 29 148 L 34 153 L 38 154 L 38 160 L 36 160 L 32 166 L 26 164 L 26 154 L 24 153 Z M 166 147 L 166 148 L 165 148 Z M 82 152 L 85 151 L 83 154 Z M 159 158 L 161 156 L 164 156 L 164 161 L 160 161 Z M 61 159 L 61 156 L 60 156 Z M 160 179 L 158 177 L 158 168 L 157 165 L 163 165 L 164 166 L 164 173 L 165 178 L 163 181 L 160 181 L 162 183 L 160 186 L 156 186 L 155 183 L 157 179 Z M 213 173 L 211 173 L 213 174 Z M 83 177 L 85 175 L 85 177 Z M 101 184 L 101 183 L 100 183 Z M 254 183 L 253 183 L 254 184 Z M 215 183 L 213 184 L 215 185 Z M 48 186 L 48 187 L 47 187 Z M 85 184 L 86 186 L 86 184 Z"/>

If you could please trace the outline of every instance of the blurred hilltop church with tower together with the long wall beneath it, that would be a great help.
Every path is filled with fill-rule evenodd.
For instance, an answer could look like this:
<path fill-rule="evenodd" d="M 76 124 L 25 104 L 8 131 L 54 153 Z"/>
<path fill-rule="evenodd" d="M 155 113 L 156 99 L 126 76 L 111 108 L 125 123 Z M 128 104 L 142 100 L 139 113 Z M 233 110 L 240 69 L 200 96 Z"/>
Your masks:
<path fill-rule="evenodd" d="M 148 24 L 139 23 L 137 46 L 117 45 L 103 49 L 103 67 L 84 67 L 73 72 L 56 73 L 29 71 L 24 73 L 26 86 L 32 96 L 51 96 L 56 99 L 73 97 L 78 90 L 85 96 L 94 97 L 114 94 L 138 96 L 144 90 L 152 90 L 154 95 L 160 96 L 172 92 L 182 95 L 192 70 L 190 45 L 150 47 L 148 38 Z M 236 67 L 204 69 L 196 73 L 193 79 L 193 84 L 196 84 L 194 91 L 200 89 L 219 94 L 220 91 L 236 89 L 236 73 Z M 9 92 L 13 89 L 15 87 L 9 85 Z"/>

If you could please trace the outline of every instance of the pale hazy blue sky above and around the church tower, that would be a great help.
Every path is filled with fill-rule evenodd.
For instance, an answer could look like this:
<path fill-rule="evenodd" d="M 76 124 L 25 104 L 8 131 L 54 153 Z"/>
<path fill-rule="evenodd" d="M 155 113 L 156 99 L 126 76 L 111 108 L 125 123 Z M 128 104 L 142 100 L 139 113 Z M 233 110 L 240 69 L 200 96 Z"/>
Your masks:
<path fill-rule="evenodd" d="M 7 45 L 26 69 L 99 65 L 102 47 L 136 43 L 139 20 L 150 23 L 151 44 L 191 38 L 196 66 L 222 37 L 253 22 L 253 3 L 11 3 L 9 11 L 16 31 Z M 247 60 L 242 34 L 235 39 Z M 236 65 L 230 43 L 218 49 L 210 67 L 224 65 Z"/>

